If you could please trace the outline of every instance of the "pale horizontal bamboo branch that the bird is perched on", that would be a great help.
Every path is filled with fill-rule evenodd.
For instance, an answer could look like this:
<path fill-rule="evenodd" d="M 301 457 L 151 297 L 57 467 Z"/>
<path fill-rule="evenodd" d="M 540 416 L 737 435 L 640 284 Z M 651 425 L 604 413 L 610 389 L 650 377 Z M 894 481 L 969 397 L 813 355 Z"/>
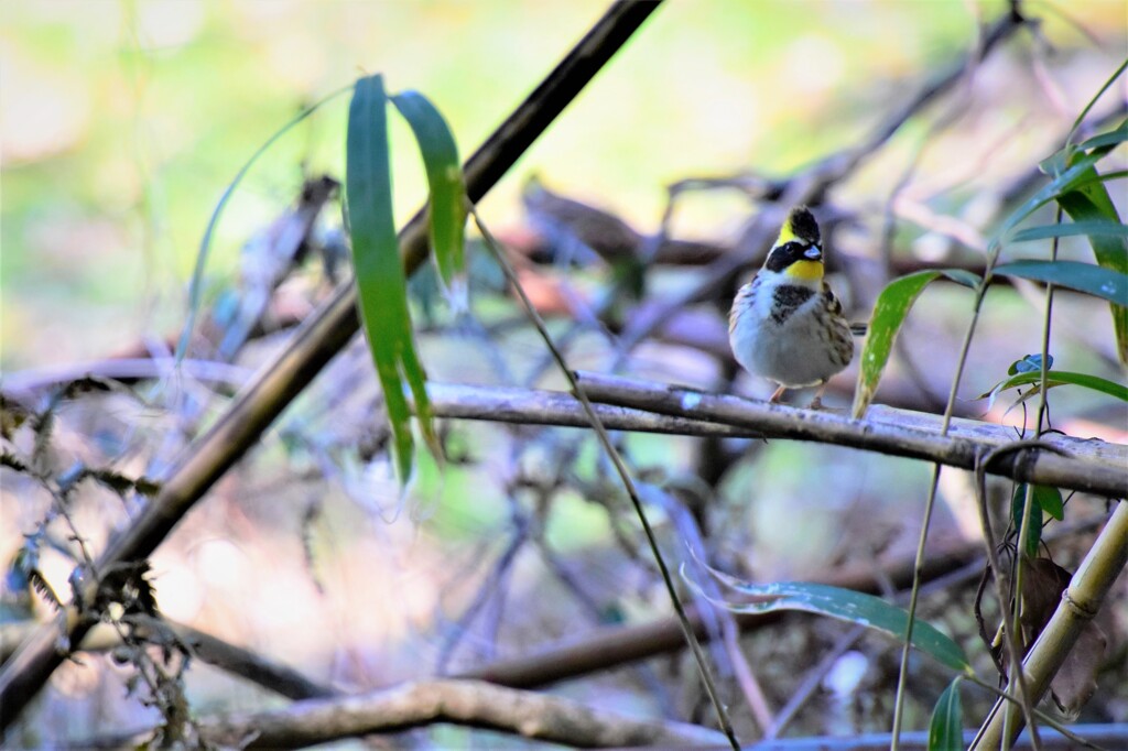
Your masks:
<path fill-rule="evenodd" d="M 830 410 L 779 404 L 646 381 L 581 373 L 580 385 L 600 418 L 615 430 L 678 432 L 687 435 L 757 435 L 845 445 L 897 457 L 973 469 L 976 457 L 1014 441 L 1014 431 L 973 419 L 953 419 L 941 435 L 937 415 L 874 406 L 855 421 Z M 428 394 L 440 417 L 518 424 L 587 426 L 580 403 L 559 391 L 432 383 Z M 666 422 L 680 419 L 682 422 Z M 725 433 L 724 430 L 733 433 Z M 1128 447 L 1068 435 L 1047 436 L 1068 456 L 1037 449 L 1015 451 L 989 471 L 1038 483 L 1122 498 L 1128 496 Z"/>

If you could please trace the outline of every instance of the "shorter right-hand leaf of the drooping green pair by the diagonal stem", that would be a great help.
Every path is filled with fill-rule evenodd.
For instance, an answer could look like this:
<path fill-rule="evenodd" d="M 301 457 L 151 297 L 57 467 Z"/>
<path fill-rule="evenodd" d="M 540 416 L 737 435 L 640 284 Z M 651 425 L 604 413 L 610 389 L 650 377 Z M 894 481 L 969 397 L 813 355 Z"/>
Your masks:
<path fill-rule="evenodd" d="M 404 116 L 423 156 L 430 191 L 431 245 L 439 275 L 451 294 L 452 304 L 466 307 L 466 180 L 458 147 L 447 121 L 417 91 L 391 97 Z"/>

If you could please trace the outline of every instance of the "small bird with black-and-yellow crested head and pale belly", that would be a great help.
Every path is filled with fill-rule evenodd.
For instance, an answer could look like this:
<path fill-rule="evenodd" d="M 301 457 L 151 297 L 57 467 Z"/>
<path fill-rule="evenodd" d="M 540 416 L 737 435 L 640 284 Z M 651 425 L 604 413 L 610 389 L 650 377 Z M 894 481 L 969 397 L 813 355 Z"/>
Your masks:
<path fill-rule="evenodd" d="M 819 223 L 807 206 L 795 206 L 764 266 L 732 301 L 732 353 L 749 373 L 778 385 L 772 403 L 787 389 L 818 386 L 810 408 L 821 408 L 827 381 L 854 357 L 851 324 L 822 263 Z"/>

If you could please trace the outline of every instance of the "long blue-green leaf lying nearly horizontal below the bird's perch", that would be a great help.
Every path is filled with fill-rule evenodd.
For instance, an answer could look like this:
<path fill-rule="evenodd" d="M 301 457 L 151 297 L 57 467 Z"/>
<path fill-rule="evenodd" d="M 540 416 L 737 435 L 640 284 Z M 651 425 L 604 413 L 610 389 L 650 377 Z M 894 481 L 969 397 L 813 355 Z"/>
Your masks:
<path fill-rule="evenodd" d="M 755 598 L 755 601 L 749 603 L 717 602 L 711 599 L 695 582 L 689 582 L 702 597 L 731 612 L 764 613 L 775 610 L 802 610 L 858 624 L 883 631 L 900 642 L 905 640 L 905 631 L 909 622 L 908 612 L 872 594 L 811 582 L 747 584 L 716 569 L 710 568 L 708 571 L 722 584 Z M 913 628 L 913 646 L 953 670 L 971 671 L 971 665 L 968 663 L 963 650 L 934 626 L 919 619 L 916 620 Z"/>

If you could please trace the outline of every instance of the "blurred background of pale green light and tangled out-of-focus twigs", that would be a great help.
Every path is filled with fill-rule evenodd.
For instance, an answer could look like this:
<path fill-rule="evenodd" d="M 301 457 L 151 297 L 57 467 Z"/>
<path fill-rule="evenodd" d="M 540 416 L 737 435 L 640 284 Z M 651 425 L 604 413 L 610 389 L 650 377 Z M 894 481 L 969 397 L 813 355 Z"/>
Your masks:
<path fill-rule="evenodd" d="M 108 360 L 158 363 L 138 365 L 118 381 L 127 383 L 121 390 L 60 407 L 45 466 L 62 471 L 82 461 L 159 478 L 293 324 L 347 279 L 340 201 L 328 182 L 324 195 L 311 198 L 309 188 L 323 176 L 343 177 L 347 96 L 338 96 L 266 152 L 219 224 L 190 353 L 214 366 L 170 377 L 159 365 L 184 325 L 217 202 L 303 107 L 359 74 L 382 72 L 391 90 L 425 92 L 469 154 L 605 8 L 598 0 L 0 5 L 3 387 L 42 406 L 69 378 L 108 373 Z M 816 206 L 852 318 L 865 320 L 876 291 L 899 273 L 927 264 L 981 267 L 984 238 L 1037 187 L 1038 162 L 1061 147 L 1128 55 L 1128 11 L 1119 0 L 1023 8 L 1037 23 L 999 41 L 891 138 L 857 153 L 856 168 L 831 180 Z M 1006 12 L 1003 2 L 957 0 L 670 2 L 481 209 L 522 264 L 573 366 L 764 397 L 766 385 L 737 372 L 724 339 L 733 285 L 761 259 L 756 218 L 777 227 L 785 207 L 774 202 L 784 180 L 855 153 L 919 91 L 973 60 L 984 28 Z M 1094 107 L 1089 134 L 1114 126 L 1125 98 L 1121 80 Z M 409 134 L 395 121 L 393 141 L 397 214 L 406 219 L 425 185 Z M 1111 159 L 1123 169 L 1122 149 Z M 1123 215 L 1122 184 L 1109 191 Z M 306 241 L 297 263 L 279 273 L 263 258 L 296 218 L 309 220 Z M 649 256 L 654 263 L 617 263 L 642 253 L 656 253 Z M 668 326 L 633 348 L 620 346 L 616 336 L 643 312 L 691 295 L 717 263 L 732 263 L 731 254 L 739 264 L 715 292 L 687 298 Z M 1047 254 L 1028 246 L 1005 257 Z M 1084 241 L 1065 242 L 1063 254 L 1092 258 Z M 413 282 L 429 377 L 559 388 L 497 270 L 477 257 L 468 319 L 450 313 L 433 280 Z M 990 405 L 976 397 L 1005 378 L 1011 362 L 1040 350 L 1041 299 L 1021 285 L 988 298 L 961 414 L 1029 425 L 1021 407 L 1007 410 L 1013 392 Z M 926 293 L 878 401 L 942 408 L 970 301 L 953 285 Z M 253 326 L 241 330 L 248 309 Z M 1051 347 L 1058 366 L 1122 381 L 1112 342 L 1107 306 L 1059 295 Z M 832 406 L 848 403 L 854 377 L 851 369 L 836 380 Z M 1128 440 L 1122 404 L 1067 388 L 1052 396 L 1056 427 Z M 637 523 L 582 433 L 450 423 L 446 468 L 421 457 L 402 494 L 381 419 L 368 355 L 354 346 L 161 547 L 152 564 L 162 611 L 349 689 L 468 669 L 667 612 Z M 35 442 L 17 435 L 14 445 Z M 774 581 L 860 559 L 900 560 L 915 546 L 924 465 L 785 442 L 632 435 L 624 448 L 652 488 L 675 560 L 679 540 L 696 536 L 714 565 Z M 25 534 L 65 537 L 52 527 L 50 494 L 11 472 L 3 480 L 5 562 L 26 546 Z M 940 548 L 975 540 L 969 487 L 959 474 L 943 478 L 948 505 L 933 536 Z M 1008 487 L 995 491 L 1010 498 Z M 142 502 L 91 487 L 76 522 L 97 547 Z M 1069 511 L 1068 519 L 1094 519 L 1103 502 L 1078 496 Z M 1065 539 L 1058 563 L 1074 566 L 1090 539 Z M 56 591 L 67 591 L 72 566 L 44 546 L 42 569 Z M 970 609 L 975 583 L 927 603 L 926 615 L 982 657 Z M 50 615 L 42 601 L 32 608 Z M 1109 657 L 1086 719 L 1128 718 L 1123 612 L 1109 625 L 1120 651 Z M 775 708 L 841 630 L 788 622 L 802 627 L 776 627 L 742 644 Z M 795 732 L 888 727 L 896 650 L 873 636 L 853 648 L 862 669 L 852 688 L 819 689 Z M 108 660 L 64 665 L 28 715 L 28 744 L 152 724 L 153 710 L 123 696 L 129 670 Z M 915 670 L 919 691 L 909 718 L 919 727 L 944 674 L 926 663 Z M 747 686 L 737 688 L 731 670 L 722 674 L 741 701 Z M 200 712 L 277 703 L 200 663 L 186 687 Z M 632 714 L 708 719 L 680 659 L 556 690 Z M 448 728 L 424 742 L 502 741 Z"/>

